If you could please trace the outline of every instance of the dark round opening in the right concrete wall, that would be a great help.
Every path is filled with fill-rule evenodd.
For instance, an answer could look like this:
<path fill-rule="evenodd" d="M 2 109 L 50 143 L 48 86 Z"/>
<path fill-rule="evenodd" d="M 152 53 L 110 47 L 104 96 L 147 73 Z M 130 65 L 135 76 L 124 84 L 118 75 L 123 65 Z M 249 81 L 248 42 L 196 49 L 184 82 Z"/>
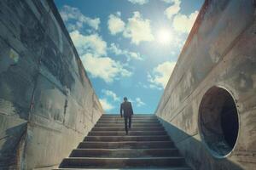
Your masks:
<path fill-rule="evenodd" d="M 201 100 L 199 128 L 207 149 L 215 157 L 230 154 L 239 130 L 236 103 L 224 88 L 210 88 Z"/>

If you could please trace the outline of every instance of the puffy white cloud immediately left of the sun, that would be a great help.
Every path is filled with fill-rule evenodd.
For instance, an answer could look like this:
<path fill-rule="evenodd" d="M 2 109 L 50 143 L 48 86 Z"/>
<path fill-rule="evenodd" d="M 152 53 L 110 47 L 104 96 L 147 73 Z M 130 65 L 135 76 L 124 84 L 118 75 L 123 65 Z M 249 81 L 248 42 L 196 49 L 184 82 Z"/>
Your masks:
<path fill-rule="evenodd" d="M 131 38 L 131 42 L 134 44 L 154 40 L 154 36 L 151 32 L 150 20 L 143 19 L 142 15 L 137 11 L 128 19 L 123 35 L 124 37 Z"/>

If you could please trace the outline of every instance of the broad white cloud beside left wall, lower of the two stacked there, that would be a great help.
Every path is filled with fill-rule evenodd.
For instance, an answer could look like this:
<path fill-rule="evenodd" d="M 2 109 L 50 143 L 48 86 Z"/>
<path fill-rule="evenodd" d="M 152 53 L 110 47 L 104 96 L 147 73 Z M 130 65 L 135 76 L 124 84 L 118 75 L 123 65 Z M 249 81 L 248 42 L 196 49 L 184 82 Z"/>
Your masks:
<path fill-rule="evenodd" d="M 130 71 L 127 71 L 123 65 L 109 57 L 84 54 L 81 59 L 86 71 L 89 71 L 92 77 L 102 78 L 105 82 L 113 82 L 119 77 L 131 76 Z"/>

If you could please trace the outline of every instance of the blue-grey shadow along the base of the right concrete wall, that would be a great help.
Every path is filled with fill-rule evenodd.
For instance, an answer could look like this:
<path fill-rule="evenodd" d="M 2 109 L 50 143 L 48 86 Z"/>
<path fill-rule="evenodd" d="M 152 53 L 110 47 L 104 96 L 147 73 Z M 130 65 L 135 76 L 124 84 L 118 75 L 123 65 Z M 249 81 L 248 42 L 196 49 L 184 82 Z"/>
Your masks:
<path fill-rule="evenodd" d="M 166 132 L 171 137 L 177 149 L 184 156 L 186 162 L 195 170 L 242 170 L 240 165 L 230 161 L 228 158 L 215 158 L 195 136 L 191 136 L 183 130 L 173 126 L 158 117 Z M 198 135 L 198 134 L 197 134 Z"/>

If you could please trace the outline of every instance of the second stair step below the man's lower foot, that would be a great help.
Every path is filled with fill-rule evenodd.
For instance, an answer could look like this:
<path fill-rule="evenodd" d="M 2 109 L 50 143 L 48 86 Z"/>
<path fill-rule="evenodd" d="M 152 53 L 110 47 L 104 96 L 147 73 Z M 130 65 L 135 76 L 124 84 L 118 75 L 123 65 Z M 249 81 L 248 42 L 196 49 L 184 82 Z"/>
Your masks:
<path fill-rule="evenodd" d="M 172 141 L 81 142 L 80 149 L 172 149 Z"/>

